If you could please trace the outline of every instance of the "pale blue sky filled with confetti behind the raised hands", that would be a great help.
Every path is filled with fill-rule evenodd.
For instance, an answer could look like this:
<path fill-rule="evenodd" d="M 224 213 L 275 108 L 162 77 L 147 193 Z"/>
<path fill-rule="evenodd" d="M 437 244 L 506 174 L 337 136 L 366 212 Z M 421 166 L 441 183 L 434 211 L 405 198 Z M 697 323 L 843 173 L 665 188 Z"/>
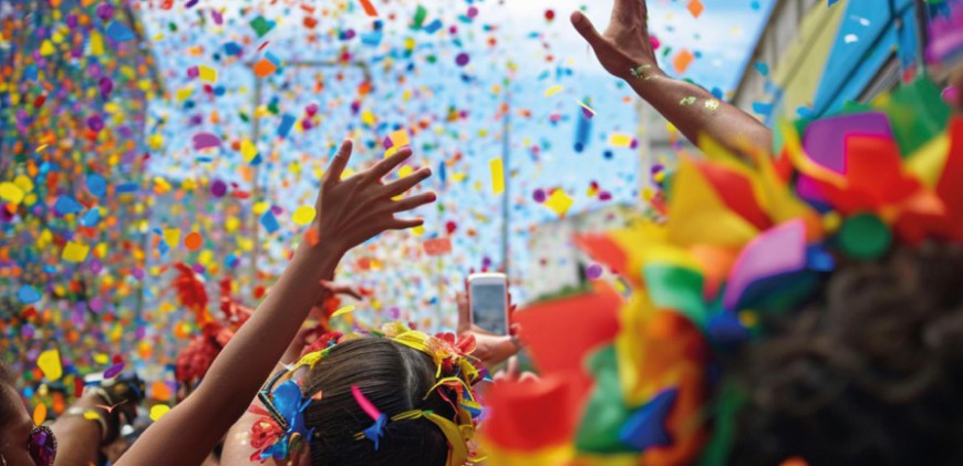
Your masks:
<path fill-rule="evenodd" d="M 582 8 L 583 2 L 425 1 L 425 24 L 435 20 L 443 24 L 428 33 L 408 28 L 418 3 L 374 1 L 380 18 L 389 19 L 381 27 L 377 44 L 361 40 L 377 28 L 353 1 L 342 3 L 348 6 L 342 10 L 331 7 L 328 15 L 320 14 L 328 2 L 320 3 L 312 13 L 301 9 L 299 2 L 279 2 L 282 4 L 275 7 L 266 3 L 208 1 L 203 2 L 203 9 L 147 9 L 145 19 L 168 89 L 172 94 L 189 93 L 186 100 L 158 100 L 152 105 L 154 132 L 165 142 L 153 169 L 173 178 L 217 178 L 245 187 L 240 176 L 245 162 L 227 148 L 231 141 L 250 137 L 250 124 L 240 117 L 241 113 L 250 113 L 253 86 L 245 61 L 270 52 L 283 66 L 292 60 L 327 60 L 350 53 L 354 60 L 371 63 L 374 90 L 364 99 L 356 93 L 361 80 L 358 71 L 289 66 L 267 80 L 262 102 L 276 100 L 279 114 L 261 120 L 265 132 L 257 143 L 261 154 L 278 153 L 278 162 L 266 163 L 262 168 L 262 182 L 271 187 L 268 200 L 281 224 L 281 230 L 269 237 L 275 267 L 300 235 L 290 211 L 311 204 L 315 170 L 324 166 L 327 155 L 341 138 L 349 134 L 355 138 L 359 151 L 354 163 L 360 167 L 381 157 L 381 143 L 392 131 L 426 126 L 417 134 L 410 131 L 416 149 L 411 165 L 433 167 L 436 176 L 427 188 L 441 195 L 438 206 L 418 213 L 426 218 L 425 231 L 421 236 L 385 235 L 349 258 L 343 277 L 376 289 L 386 304 L 372 306 L 381 308 L 371 311 L 375 319 L 397 307 L 397 312 L 389 314 L 422 318 L 431 325 L 447 323 L 451 296 L 462 277 L 468 269 L 486 263 L 486 259 L 494 266 L 500 260 L 500 197 L 491 193 L 488 166 L 501 154 L 499 108 L 505 102 L 506 76 L 511 77 L 508 89 L 514 111 L 510 183 L 515 263 L 526 262 L 528 229 L 558 218 L 532 199 L 536 189 L 563 189 L 573 199 L 571 213 L 605 204 L 588 194 L 592 182 L 610 193 L 613 203 L 639 198 L 638 154 L 608 143 L 613 133 L 634 133 L 634 94 L 604 74 L 569 24 L 569 13 Z M 744 68 L 772 0 L 703 0 L 705 12 L 697 20 L 683 1 L 650 3 L 651 29 L 663 46 L 687 48 L 700 56 L 684 77 L 727 92 Z M 599 29 L 605 27 L 610 4 L 596 1 L 584 7 Z M 215 24 L 211 10 L 222 14 L 222 24 Z M 553 21 L 546 20 L 547 10 L 555 12 Z M 258 13 L 278 23 L 263 38 L 255 37 L 249 25 Z M 303 25 L 307 15 L 320 18 L 314 29 Z M 390 20 L 392 15 L 395 20 Z M 242 45 L 242 59 L 225 56 L 228 42 Z M 470 58 L 465 66 L 455 63 L 462 53 Z M 197 65 L 217 70 L 216 85 L 224 87 L 217 90 L 220 95 L 205 93 L 201 83 L 188 79 L 187 69 Z M 320 94 L 312 89 L 319 82 L 324 85 Z M 545 91 L 552 86 L 562 86 L 563 91 L 547 97 Z M 581 112 L 576 101 L 590 102 L 597 112 L 582 153 L 573 149 L 576 120 Z M 281 115 L 294 116 L 300 123 L 310 103 L 321 108 L 314 117 L 318 127 L 276 137 Z M 364 112 L 374 115 L 376 122 L 363 123 Z M 463 116 L 448 121 L 453 112 Z M 216 122 L 213 114 L 217 115 Z M 219 135 L 225 147 L 198 154 L 190 141 L 201 131 Z M 443 165 L 444 180 L 438 173 Z M 282 187 L 284 183 L 288 187 Z M 197 207 L 205 208 L 216 206 Z M 191 224 L 194 217 L 177 221 L 184 228 L 199 228 Z M 453 253 L 442 259 L 420 258 L 421 242 L 447 235 L 452 225 L 456 227 Z M 360 258 L 382 263 L 383 270 L 358 267 Z M 519 267 L 512 272 L 530 271 Z M 524 298 L 524 290 L 517 290 L 516 296 Z"/>

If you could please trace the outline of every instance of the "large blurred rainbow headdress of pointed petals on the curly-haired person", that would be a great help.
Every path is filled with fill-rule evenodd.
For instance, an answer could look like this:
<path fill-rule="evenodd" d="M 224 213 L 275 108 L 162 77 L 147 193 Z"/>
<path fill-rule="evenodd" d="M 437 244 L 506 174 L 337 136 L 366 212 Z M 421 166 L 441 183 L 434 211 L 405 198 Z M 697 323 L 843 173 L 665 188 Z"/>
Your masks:
<path fill-rule="evenodd" d="M 725 464 L 737 403 L 721 395 L 716 352 L 764 338 L 763 313 L 811 298 L 841 261 L 963 244 L 963 118 L 929 81 L 784 123 L 776 156 L 700 146 L 667 179 L 664 221 L 579 239 L 632 289 L 618 333 L 586 359 L 591 389 L 567 444 L 512 449 L 483 433 L 497 464 Z M 490 406 L 489 428 L 524 428 L 520 406 Z"/>

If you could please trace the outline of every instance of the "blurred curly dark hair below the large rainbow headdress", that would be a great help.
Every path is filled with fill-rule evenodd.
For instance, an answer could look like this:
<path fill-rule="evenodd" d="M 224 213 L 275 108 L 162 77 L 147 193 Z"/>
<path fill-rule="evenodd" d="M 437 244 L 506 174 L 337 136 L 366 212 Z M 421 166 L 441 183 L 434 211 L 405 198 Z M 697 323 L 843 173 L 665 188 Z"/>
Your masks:
<path fill-rule="evenodd" d="M 741 362 L 731 464 L 963 465 L 963 248 L 840 265 Z"/>

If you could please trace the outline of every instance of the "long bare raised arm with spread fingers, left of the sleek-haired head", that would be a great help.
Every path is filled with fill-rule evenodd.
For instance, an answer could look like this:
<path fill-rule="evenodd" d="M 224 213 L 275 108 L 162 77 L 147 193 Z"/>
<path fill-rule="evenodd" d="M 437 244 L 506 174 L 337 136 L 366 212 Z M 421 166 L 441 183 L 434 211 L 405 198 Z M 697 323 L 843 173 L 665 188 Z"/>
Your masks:
<path fill-rule="evenodd" d="M 244 414 L 321 296 L 320 281 L 333 277 L 341 257 L 382 231 L 422 224 L 394 215 L 434 201 L 433 193 L 392 198 L 427 178 L 431 170 L 383 184 L 381 178 L 411 156 L 405 148 L 342 180 L 351 148 L 351 142 L 341 146 L 321 183 L 312 225 L 318 244 L 301 242 L 268 298 L 225 346 L 200 387 L 152 425 L 118 466 L 200 464 Z"/>

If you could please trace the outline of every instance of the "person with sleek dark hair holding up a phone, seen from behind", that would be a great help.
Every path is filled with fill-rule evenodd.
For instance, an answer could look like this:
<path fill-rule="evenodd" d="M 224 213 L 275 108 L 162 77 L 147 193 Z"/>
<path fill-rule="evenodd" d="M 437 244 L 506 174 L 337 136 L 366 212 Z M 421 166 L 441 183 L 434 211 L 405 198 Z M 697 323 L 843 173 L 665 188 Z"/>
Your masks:
<path fill-rule="evenodd" d="M 483 367 L 495 367 L 518 353 L 520 345 L 514 334 L 494 335 L 472 325 L 467 292 L 457 293 L 456 300 L 459 342 L 470 342 L 467 344 L 473 351 L 465 351 L 464 345 L 452 346 L 454 335 L 447 343 L 442 340 L 427 341 L 434 341 L 433 344 L 443 348 L 462 348 L 462 362 L 467 362 L 464 356 L 470 352 L 472 361 L 477 361 Z M 263 432 L 259 425 L 270 424 L 270 420 L 265 420 L 262 401 L 255 400 L 227 435 L 222 456 L 225 464 L 260 464 L 266 459 L 283 462 L 292 458 L 296 464 L 302 465 L 462 464 L 447 463 L 451 439 L 445 437 L 444 428 L 424 417 L 389 424 L 376 448 L 372 444 L 359 442 L 354 434 L 367 427 L 371 420 L 354 400 L 351 389 L 355 384 L 366 386 L 365 395 L 372 401 L 379 400 L 375 404 L 392 417 L 422 410 L 445 413 L 443 417 L 451 420 L 456 414 L 452 411 L 452 401 L 458 398 L 457 391 L 468 390 L 467 385 L 474 385 L 479 379 L 466 379 L 465 384 L 449 387 L 434 387 L 441 380 L 451 380 L 453 375 L 437 375 L 437 363 L 428 353 L 420 353 L 408 345 L 376 336 L 351 340 L 339 333 L 329 333 L 312 341 L 309 332 L 310 329 L 304 329 L 299 333 L 279 365 L 297 366 L 297 362 L 306 355 L 330 346 L 330 353 L 312 371 L 294 375 L 302 380 L 302 386 L 317 387 L 317 392 L 312 389 L 306 395 L 320 392 L 320 400 L 312 402 L 304 412 L 306 428 L 314 432 L 313 438 L 302 449 L 301 456 L 262 457 Z M 512 333 L 517 332 L 518 328 L 514 327 Z M 449 366 L 454 369 L 458 364 Z M 467 365 L 464 369 L 468 373 L 473 372 Z M 459 373 L 459 376 L 465 375 Z M 458 428 L 470 432 L 474 426 L 463 424 Z M 463 441 L 455 441 L 458 442 Z M 469 444 L 464 443 L 466 447 Z"/>

